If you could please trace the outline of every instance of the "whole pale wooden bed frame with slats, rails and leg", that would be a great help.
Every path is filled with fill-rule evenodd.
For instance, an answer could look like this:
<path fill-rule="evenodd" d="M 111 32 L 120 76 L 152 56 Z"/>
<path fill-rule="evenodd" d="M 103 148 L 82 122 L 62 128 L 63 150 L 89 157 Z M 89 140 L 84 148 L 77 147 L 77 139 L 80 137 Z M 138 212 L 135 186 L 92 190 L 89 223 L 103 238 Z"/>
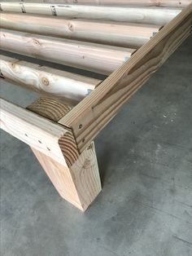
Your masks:
<path fill-rule="evenodd" d="M 0 56 L 1 79 L 43 95 L 27 108 L 1 99 L 2 130 L 27 143 L 59 194 L 85 211 L 102 189 L 95 136 L 190 35 L 192 3 L 23 0 L 0 9 L 3 51 L 107 75 Z"/>

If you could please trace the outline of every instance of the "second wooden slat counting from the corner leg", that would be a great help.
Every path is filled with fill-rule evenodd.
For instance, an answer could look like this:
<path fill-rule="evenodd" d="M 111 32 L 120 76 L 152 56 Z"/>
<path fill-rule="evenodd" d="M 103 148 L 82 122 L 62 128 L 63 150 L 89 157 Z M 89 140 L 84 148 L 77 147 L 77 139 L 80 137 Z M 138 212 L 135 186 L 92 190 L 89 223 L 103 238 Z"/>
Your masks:
<path fill-rule="evenodd" d="M 1 29 L 1 48 L 21 55 L 110 74 L 129 60 L 134 49 L 48 38 Z"/>

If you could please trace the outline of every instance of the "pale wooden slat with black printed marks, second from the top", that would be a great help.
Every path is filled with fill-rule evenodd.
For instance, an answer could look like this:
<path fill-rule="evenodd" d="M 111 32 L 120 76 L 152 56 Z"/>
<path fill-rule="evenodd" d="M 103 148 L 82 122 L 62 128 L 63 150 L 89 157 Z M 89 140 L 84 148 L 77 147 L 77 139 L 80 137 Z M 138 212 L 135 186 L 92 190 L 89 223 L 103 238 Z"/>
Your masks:
<path fill-rule="evenodd" d="M 147 7 L 95 7 L 42 3 L 3 2 L 2 11 L 15 11 L 39 15 L 58 15 L 70 19 L 112 20 L 143 24 L 167 24 L 181 10 Z"/>

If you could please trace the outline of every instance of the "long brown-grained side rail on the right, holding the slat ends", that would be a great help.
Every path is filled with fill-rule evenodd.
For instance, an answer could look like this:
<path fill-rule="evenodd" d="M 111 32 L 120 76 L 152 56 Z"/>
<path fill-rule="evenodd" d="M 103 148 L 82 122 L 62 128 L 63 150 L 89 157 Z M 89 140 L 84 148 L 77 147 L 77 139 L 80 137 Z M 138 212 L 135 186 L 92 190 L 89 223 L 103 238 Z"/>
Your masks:
<path fill-rule="evenodd" d="M 59 121 L 72 128 L 80 151 L 190 35 L 191 25 L 192 3 Z"/>

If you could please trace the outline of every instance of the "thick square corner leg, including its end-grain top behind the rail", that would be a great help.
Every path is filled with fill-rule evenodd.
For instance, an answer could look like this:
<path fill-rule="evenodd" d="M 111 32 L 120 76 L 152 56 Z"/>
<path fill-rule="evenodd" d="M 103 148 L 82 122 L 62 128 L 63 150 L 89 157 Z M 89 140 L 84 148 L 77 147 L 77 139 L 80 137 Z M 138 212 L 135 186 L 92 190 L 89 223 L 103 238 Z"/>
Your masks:
<path fill-rule="evenodd" d="M 50 99 L 38 99 L 28 106 L 28 109 L 36 113 L 40 113 L 38 109 L 41 109 L 42 116 L 50 117 L 50 105 L 53 103 L 57 104 Z M 60 116 L 63 116 L 60 105 L 57 104 L 58 108 L 54 108 L 57 113 L 55 113 L 55 118 L 50 118 L 52 121 L 59 120 Z M 69 111 L 70 108 L 63 109 Z M 60 196 L 80 210 L 85 211 L 102 189 L 94 142 L 88 148 L 85 148 L 75 161 L 68 161 L 69 157 L 65 157 L 63 153 L 67 165 L 62 165 L 35 148 L 32 148 L 32 150 Z"/>

